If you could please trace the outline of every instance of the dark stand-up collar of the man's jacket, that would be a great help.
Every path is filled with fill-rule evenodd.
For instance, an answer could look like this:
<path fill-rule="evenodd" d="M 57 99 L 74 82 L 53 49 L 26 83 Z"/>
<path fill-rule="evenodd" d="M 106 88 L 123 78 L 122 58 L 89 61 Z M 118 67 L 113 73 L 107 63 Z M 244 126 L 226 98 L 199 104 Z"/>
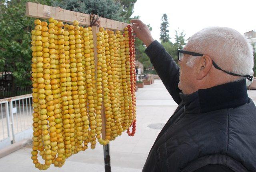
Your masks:
<path fill-rule="evenodd" d="M 249 100 L 245 79 L 198 90 L 192 94 L 180 92 L 180 98 L 184 102 L 184 112 L 189 114 L 235 108 Z"/>

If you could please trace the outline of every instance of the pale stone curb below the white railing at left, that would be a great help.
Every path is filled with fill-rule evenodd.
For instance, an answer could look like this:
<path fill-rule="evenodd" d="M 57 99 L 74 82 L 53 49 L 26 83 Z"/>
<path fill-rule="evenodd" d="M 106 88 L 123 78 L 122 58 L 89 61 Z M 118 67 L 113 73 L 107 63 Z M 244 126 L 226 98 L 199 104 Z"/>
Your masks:
<path fill-rule="evenodd" d="M 23 148 L 30 142 L 31 142 L 31 139 L 24 139 L 24 140 L 21 140 L 20 142 L 11 144 L 10 146 L 8 146 L 6 148 L 0 149 L 0 158 L 4 157 L 12 152 L 15 152 L 16 150 Z"/>

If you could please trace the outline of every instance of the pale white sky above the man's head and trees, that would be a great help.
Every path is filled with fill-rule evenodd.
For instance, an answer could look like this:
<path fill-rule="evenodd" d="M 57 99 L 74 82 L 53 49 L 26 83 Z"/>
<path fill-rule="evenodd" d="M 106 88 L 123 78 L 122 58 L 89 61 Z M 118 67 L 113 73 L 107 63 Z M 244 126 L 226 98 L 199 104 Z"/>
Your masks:
<path fill-rule="evenodd" d="M 132 16 L 152 27 L 159 40 L 162 15 L 169 21 L 169 35 L 184 30 L 185 38 L 210 26 L 224 26 L 241 34 L 256 29 L 256 0 L 137 0 Z"/>

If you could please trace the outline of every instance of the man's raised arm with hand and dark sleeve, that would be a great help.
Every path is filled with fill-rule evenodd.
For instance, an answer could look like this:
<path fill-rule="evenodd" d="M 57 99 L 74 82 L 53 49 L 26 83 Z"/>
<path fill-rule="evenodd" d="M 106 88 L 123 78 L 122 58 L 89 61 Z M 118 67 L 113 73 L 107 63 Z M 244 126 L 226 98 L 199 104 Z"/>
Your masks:
<path fill-rule="evenodd" d="M 150 30 L 146 24 L 140 20 L 131 20 L 132 29 L 140 40 L 147 46 L 146 54 L 149 56 L 154 69 L 161 78 L 164 86 L 177 104 L 180 104 L 181 99 L 178 88 L 179 83 L 179 67 L 174 62 L 170 54 L 166 52 L 164 47 L 150 34 Z"/>

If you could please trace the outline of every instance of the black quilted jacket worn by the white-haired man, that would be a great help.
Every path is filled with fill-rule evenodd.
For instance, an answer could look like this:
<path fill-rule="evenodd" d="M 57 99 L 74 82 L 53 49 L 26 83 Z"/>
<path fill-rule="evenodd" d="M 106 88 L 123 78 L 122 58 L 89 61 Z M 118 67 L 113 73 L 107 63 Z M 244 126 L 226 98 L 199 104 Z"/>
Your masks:
<path fill-rule="evenodd" d="M 154 41 L 146 54 L 178 108 L 152 146 L 143 172 L 256 172 L 256 107 L 246 80 L 189 95 L 179 67 Z"/>

